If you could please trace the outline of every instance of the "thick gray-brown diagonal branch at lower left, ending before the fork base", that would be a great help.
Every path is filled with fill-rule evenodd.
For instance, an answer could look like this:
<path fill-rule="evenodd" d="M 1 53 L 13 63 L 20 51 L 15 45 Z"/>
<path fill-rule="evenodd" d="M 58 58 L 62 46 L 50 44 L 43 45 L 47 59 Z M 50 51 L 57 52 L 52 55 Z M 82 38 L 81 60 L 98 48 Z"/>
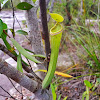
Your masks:
<path fill-rule="evenodd" d="M 38 83 L 36 81 L 31 80 L 2 59 L 0 59 L 0 73 L 11 78 L 31 92 L 35 92 L 38 88 Z"/>

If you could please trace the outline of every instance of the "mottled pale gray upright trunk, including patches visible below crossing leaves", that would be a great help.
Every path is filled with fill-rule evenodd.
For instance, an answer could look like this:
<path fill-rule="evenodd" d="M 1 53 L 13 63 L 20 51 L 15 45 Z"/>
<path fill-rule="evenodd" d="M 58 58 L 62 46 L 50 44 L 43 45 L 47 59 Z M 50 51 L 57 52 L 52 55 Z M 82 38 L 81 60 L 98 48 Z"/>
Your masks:
<path fill-rule="evenodd" d="M 35 54 L 45 54 L 42 44 L 41 33 L 39 31 L 38 19 L 37 19 L 37 9 L 39 7 L 39 0 L 33 4 L 32 0 L 22 0 L 24 2 L 28 2 L 34 7 L 30 10 L 25 11 L 26 23 L 29 30 L 29 39 L 31 42 L 32 50 Z M 43 60 L 42 60 L 43 61 Z M 33 63 L 31 63 L 33 65 Z M 33 70 L 44 69 L 44 65 L 37 65 L 37 68 L 33 68 Z M 41 79 L 45 77 L 45 74 L 42 72 L 36 73 Z"/>

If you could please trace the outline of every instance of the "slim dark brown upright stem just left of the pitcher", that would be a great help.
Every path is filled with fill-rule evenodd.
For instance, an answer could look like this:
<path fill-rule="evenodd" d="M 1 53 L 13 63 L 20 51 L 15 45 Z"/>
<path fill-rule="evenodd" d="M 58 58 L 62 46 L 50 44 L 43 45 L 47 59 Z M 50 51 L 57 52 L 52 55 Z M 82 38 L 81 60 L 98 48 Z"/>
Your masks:
<path fill-rule="evenodd" d="M 50 54 L 50 41 L 49 41 L 49 33 L 48 33 L 48 25 L 47 25 L 47 13 L 46 13 L 46 2 L 45 0 L 40 0 L 40 11 L 41 11 L 41 22 L 43 27 L 43 35 L 44 35 L 44 41 L 45 41 L 45 51 L 46 51 L 46 57 L 47 61 L 48 55 Z M 47 63 L 48 68 L 49 62 Z"/>

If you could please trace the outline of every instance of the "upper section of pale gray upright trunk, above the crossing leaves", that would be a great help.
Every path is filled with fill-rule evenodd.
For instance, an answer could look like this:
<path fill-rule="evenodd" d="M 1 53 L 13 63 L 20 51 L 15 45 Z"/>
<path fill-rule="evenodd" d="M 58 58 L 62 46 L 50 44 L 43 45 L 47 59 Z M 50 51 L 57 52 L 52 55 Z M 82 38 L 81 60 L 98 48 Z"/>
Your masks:
<path fill-rule="evenodd" d="M 34 5 L 31 0 L 24 0 L 25 2 Z M 29 30 L 29 38 L 31 41 L 32 49 L 36 54 L 44 54 L 41 34 L 38 28 L 37 7 L 25 11 L 26 22 Z"/>

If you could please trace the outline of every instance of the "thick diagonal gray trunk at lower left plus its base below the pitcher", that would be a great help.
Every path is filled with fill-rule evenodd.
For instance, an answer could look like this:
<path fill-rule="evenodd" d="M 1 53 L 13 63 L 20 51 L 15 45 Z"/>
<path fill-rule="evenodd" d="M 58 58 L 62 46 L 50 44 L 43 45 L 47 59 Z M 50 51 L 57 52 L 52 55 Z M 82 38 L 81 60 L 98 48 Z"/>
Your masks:
<path fill-rule="evenodd" d="M 0 59 L 0 73 L 34 93 L 34 100 L 52 100 L 50 92 L 48 90 L 42 90 L 40 83 L 30 79 L 2 59 Z"/>

